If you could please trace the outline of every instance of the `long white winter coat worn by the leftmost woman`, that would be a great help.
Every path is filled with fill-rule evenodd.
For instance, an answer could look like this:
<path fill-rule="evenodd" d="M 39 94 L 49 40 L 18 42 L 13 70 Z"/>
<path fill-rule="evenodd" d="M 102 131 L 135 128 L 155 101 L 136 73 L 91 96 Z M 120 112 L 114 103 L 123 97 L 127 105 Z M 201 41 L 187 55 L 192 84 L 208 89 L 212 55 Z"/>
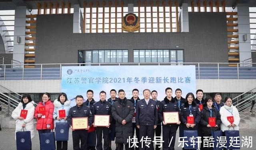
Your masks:
<path fill-rule="evenodd" d="M 26 131 L 30 131 L 31 134 L 31 138 L 34 137 L 34 111 L 35 111 L 35 106 L 34 106 L 34 101 L 29 102 L 26 107 L 25 110 L 28 110 L 28 115 L 26 117 L 26 119 L 24 120 L 19 120 L 18 117 L 20 117 L 20 112 L 23 109 L 23 103 L 19 103 L 18 106 L 14 109 L 14 111 L 12 111 L 12 118 L 15 119 L 15 123 L 16 123 L 16 129 L 15 129 L 15 133 L 18 131 L 22 130 L 22 124 L 25 123 L 26 124 Z M 16 134 L 15 134 L 15 139 L 16 139 Z"/>

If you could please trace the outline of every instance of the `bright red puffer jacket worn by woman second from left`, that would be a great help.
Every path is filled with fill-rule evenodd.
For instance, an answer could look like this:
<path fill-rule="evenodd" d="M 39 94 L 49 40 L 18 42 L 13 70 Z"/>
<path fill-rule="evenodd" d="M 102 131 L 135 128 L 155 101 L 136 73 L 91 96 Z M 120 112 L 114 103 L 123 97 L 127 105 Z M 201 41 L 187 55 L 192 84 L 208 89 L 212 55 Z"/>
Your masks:
<path fill-rule="evenodd" d="M 54 105 L 52 101 L 48 100 L 45 102 L 45 118 L 37 117 L 39 114 L 39 107 L 43 106 L 43 102 L 38 103 L 35 109 L 34 117 L 37 119 L 36 123 L 36 130 L 44 130 L 47 129 L 47 125 L 50 125 L 50 129 L 54 129 L 53 125 L 53 111 L 54 111 Z"/>

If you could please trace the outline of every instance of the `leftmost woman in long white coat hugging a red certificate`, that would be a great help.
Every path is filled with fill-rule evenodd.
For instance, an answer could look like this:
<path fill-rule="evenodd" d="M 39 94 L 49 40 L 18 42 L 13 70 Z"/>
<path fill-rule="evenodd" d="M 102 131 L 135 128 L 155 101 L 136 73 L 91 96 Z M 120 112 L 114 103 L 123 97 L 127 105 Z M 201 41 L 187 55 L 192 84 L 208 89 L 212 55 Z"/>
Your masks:
<path fill-rule="evenodd" d="M 31 139 L 34 137 L 34 104 L 35 103 L 32 101 L 30 95 L 24 94 L 22 95 L 21 102 L 14 111 L 12 111 L 12 118 L 16 120 L 15 132 L 19 132 L 22 128 L 26 128 L 25 131 L 30 131 Z"/>

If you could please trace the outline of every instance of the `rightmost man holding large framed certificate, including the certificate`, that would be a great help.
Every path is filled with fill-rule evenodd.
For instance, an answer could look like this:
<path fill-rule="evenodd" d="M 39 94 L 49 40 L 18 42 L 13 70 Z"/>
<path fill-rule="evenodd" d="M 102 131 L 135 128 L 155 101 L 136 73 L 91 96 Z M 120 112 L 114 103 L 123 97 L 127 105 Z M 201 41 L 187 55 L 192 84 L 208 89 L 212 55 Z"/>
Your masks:
<path fill-rule="evenodd" d="M 175 101 L 172 97 L 172 88 L 166 88 L 165 94 L 166 97 L 161 101 L 158 111 L 159 120 L 163 126 L 163 150 L 174 150 L 176 131 L 180 124 L 180 109 L 178 107 L 178 101 Z"/>

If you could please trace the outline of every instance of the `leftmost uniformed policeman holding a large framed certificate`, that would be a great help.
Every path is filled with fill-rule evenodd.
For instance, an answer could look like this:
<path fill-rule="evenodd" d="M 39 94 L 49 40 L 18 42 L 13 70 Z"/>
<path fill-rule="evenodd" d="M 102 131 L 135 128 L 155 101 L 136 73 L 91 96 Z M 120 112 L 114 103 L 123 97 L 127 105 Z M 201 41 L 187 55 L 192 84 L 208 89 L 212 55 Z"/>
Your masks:
<path fill-rule="evenodd" d="M 90 113 L 90 109 L 83 105 L 84 97 L 82 95 L 76 96 L 76 106 L 70 108 L 68 113 L 68 125 L 72 130 L 72 138 L 73 138 L 73 149 L 74 150 L 86 150 L 87 148 L 87 130 L 90 125 L 92 125 L 92 114 Z M 88 128 L 86 130 L 74 130 L 72 128 L 72 118 L 76 117 L 88 117 Z M 81 140 L 81 146 L 79 145 Z"/>

